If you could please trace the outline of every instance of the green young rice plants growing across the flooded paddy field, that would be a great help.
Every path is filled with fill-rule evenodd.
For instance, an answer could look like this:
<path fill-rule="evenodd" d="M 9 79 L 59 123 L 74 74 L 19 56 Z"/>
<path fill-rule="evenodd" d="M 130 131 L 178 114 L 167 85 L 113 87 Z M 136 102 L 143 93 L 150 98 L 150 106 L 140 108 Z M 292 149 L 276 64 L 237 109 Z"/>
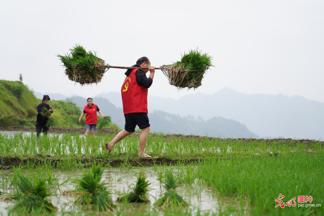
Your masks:
<path fill-rule="evenodd" d="M 136 136 L 125 138 L 109 155 L 106 155 L 104 144 L 113 137 L 114 135 L 100 134 L 85 138 L 75 133 L 44 136 L 37 143 L 36 134 L 29 136 L 22 133 L 12 136 L 0 134 L 0 157 L 2 162 L 5 162 L 4 157 L 39 158 L 44 161 L 41 165 L 30 160 L 24 169 L 38 169 L 45 166 L 49 170 L 83 170 L 84 165 L 80 160 L 84 158 L 124 160 L 119 169 L 133 168 L 129 163 L 131 159 L 142 163 L 141 159 L 137 158 Z M 297 199 L 298 196 L 312 196 L 312 203 L 322 204 L 324 151 L 320 142 L 306 145 L 301 142 L 266 143 L 262 140 L 244 142 L 239 139 L 229 141 L 217 138 L 149 136 L 146 152 L 165 160 L 178 161 L 171 167 L 153 166 L 161 181 L 164 181 L 166 171 L 172 169 L 177 180 L 176 184 L 208 186 L 220 199 L 231 199 L 239 203 L 238 207 L 224 205 L 217 214 L 322 215 L 324 213 L 322 207 L 274 208 L 277 204 L 275 199 L 280 193 L 285 196 L 284 202 L 294 197 Z M 53 159 L 64 160 L 59 162 L 58 166 L 53 166 L 51 164 Z M 195 159 L 196 162 L 185 165 L 184 160 L 188 159 Z M 6 187 L 6 184 L 3 186 Z M 296 204 L 298 205 L 297 202 Z M 122 209 L 117 211 L 123 212 Z M 147 212 L 154 211 L 150 209 Z"/>

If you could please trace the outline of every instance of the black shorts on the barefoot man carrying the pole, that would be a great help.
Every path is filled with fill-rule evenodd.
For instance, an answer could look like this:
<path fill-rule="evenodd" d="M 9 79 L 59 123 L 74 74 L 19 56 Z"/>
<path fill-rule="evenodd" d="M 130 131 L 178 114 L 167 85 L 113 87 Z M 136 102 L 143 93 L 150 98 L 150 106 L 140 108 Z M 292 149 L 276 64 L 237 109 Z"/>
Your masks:
<path fill-rule="evenodd" d="M 128 113 L 124 114 L 125 116 L 125 130 L 128 132 L 134 132 L 136 125 L 140 129 L 149 127 L 147 113 Z"/>

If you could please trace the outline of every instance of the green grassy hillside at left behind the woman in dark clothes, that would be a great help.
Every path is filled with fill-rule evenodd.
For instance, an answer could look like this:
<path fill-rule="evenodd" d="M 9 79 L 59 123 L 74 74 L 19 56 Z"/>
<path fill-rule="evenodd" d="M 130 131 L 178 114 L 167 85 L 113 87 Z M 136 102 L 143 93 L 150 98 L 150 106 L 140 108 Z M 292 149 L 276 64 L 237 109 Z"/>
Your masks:
<path fill-rule="evenodd" d="M 43 95 L 41 95 L 41 99 Z M 35 126 L 41 103 L 20 81 L 0 80 L 0 127 Z M 50 100 L 54 127 L 77 127 L 80 112 L 72 102 Z"/>

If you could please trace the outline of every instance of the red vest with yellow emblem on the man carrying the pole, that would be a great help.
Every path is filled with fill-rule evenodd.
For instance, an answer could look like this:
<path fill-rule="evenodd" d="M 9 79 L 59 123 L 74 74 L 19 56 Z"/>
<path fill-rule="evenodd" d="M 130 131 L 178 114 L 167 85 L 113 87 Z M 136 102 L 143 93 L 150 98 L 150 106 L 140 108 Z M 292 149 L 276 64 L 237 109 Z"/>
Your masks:
<path fill-rule="evenodd" d="M 147 111 L 147 89 L 139 86 L 136 81 L 134 69 L 125 78 L 121 86 L 121 99 L 124 114 L 127 113 L 148 113 Z"/>

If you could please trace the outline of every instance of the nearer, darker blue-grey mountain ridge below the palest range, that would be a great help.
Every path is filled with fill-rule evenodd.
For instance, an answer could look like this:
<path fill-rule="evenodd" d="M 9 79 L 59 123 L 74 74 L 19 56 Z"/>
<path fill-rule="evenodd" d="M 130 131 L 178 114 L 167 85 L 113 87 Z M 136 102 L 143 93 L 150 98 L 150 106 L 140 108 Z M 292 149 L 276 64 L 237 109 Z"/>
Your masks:
<path fill-rule="evenodd" d="M 87 104 L 87 99 L 82 97 L 71 97 L 68 100 L 74 102 L 80 110 L 83 110 L 83 107 Z M 114 123 L 121 128 L 124 127 L 125 119 L 122 108 L 117 108 L 110 101 L 101 97 L 94 97 L 94 103 L 98 105 L 104 115 L 110 115 Z M 222 117 L 214 117 L 204 121 L 202 118 L 195 118 L 191 115 L 181 117 L 163 111 L 154 111 L 149 113 L 149 119 L 151 131 L 155 132 L 208 135 L 222 138 L 259 138 L 241 123 Z"/>

